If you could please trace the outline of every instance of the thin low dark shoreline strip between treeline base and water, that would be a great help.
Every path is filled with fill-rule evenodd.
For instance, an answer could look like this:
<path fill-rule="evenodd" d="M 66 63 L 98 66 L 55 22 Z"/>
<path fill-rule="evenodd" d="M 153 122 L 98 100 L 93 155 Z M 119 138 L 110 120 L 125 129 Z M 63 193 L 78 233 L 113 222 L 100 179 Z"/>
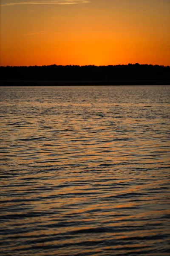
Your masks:
<path fill-rule="evenodd" d="M 2 81 L 0 86 L 32 86 L 32 85 L 170 85 L 170 81 L 162 80 L 136 80 L 136 81 Z"/>

